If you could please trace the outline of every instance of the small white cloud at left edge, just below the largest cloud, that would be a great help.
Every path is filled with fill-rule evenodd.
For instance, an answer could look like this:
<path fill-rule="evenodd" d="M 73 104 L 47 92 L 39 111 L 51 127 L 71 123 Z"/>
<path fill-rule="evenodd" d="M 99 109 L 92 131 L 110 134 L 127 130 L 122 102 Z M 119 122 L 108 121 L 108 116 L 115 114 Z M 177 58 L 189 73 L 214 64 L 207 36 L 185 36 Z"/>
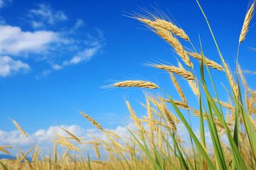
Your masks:
<path fill-rule="evenodd" d="M 21 62 L 21 60 L 13 60 L 9 56 L 0 57 L 0 76 L 7 77 L 16 72 L 28 72 L 29 65 Z"/>

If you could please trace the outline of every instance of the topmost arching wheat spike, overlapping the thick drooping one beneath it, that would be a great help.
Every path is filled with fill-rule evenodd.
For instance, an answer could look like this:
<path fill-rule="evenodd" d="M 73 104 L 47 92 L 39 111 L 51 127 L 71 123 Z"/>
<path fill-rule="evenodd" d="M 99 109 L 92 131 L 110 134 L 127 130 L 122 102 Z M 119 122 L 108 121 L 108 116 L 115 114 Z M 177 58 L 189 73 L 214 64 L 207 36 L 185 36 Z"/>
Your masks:
<path fill-rule="evenodd" d="M 147 25 L 151 26 L 152 28 L 161 27 L 166 30 L 171 31 L 175 35 L 177 35 L 180 38 L 183 38 L 184 40 L 189 41 L 188 35 L 182 30 L 181 28 L 178 28 L 173 23 L 169 21 L 165 21 L 164 19 L 156 18 L 155 21 L 151 21 L 146 18 L 137 18 L 137 20 L 141 21 L 142 23 L 146 23 Z"/>

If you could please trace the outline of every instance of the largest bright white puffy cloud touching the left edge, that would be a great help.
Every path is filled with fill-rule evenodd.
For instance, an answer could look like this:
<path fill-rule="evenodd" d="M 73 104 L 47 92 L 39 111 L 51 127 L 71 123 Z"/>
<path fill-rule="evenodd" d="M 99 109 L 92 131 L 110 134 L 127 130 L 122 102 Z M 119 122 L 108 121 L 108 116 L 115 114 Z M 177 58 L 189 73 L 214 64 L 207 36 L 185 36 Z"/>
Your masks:
<path fill-rule="evenodd" d="M 42 52 L 48 45 L 58 42 L 59 35 L 53 31 L 22 31 L 15 26 L 0 26 L 0 54 L 19 55 L 21 52 Z"/>

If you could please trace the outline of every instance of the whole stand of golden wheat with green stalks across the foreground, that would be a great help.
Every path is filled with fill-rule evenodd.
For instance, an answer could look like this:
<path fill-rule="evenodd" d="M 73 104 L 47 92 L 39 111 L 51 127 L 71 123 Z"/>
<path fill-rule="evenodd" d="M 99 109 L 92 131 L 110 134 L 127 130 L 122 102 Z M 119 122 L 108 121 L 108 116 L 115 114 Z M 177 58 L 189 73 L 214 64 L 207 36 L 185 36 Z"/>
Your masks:
<path fill-rule="evenodd" d="M 198 6 L 201 8 L 200 4 Z M 247 34 L 249 23 L 255 8 L 255 1 L 252 2 L 245 21 L 242 25 L 242 31 L 238 42 L 239 46 L 245 35 Z M 203 13 L 203 10 L 201 8 Z M 131 105 L 127 101 L 127 108 L 131 113 L 131 119 L 137 125 L 137 130 L 129 130 L 130 135 L 120 137 L 116 133 L 105 130 L 92 119 L 89 115 L 80 112 L 82 116 L 90 120 L 92 125 L 107 136 L 108 140 L 102 140 L 98 137 L 90 135 L 93 141 L 85 141 L 82 137 L 76 137 L 68 130 L 64 130 L 68 137 L 56 135 L 58 140 L 55 142 L 53 156 L 50 154 L 45 157 L 39 156 L 41 152 L 38 145 L 32 147 L 28 152 L 23 153 L 19 150 L 16 160 L 1 160 L 1 167 L 4 169 L 256 169 L 256 91 L 247 86 L 245 77 L 239 64 L 236 65 L 236 78 L 233 77 L 231 71 L 220 53 L 217 42 L 215 41 L 213 32 L 210 28 L 208 20 L 205 16 L 212 33 L 213 40 L 218 49 L 222 64 L 218 64 L 213 60 L 206 58 L 201 47 L 201 54 L 196 52 L 188 35 L 174 25 L 171 21 L 164 17 L 159 17 L 151 13 L 148 15 L 134 15 L 138 21 L 146 24 L 154 33 L 169 42 L 174 48 L 177 55 L 183 60 L 183 64 L 178 62 L 178 66 L 170 66 L 167 64 L 151 64 L 158 69 L 169 72 L 171 81 L 178 91 L 181 101 L 174 101 L 171 96 L 158 85 L 150 81 L 120 81 L 112 86 L 115 87 L 140 87 L 149 89 L 159 89 L 164 91 L 166 97 L 145 94 L 145 107 L 147 116 L 138 118 Z M 190 52 L 184 50 L 183 45 L 178 40 L 183 38 L 191 43 L 193 50 Z M 196 64 L 200 65 L 200 73 L 196 75 L 193 69 L 191 57 L 198 60 Z M 194 63 L 195 64 L 195 63 Z M 224 77 L 230 84 L 226 86 L 227 94 L 230 96 L 228 103 L 220 101 L 218 93 L 215 90 L 214 80 L 210 74 L 210 68 L 223 72 Z M 188 81 L 188 84 L 198 98 L 198 108 L 189 106 L 186 95 L 181 86 L 178 84 L 176 75 Z M 210 82 L 206 82 L 205 77 L 210 77 Z M 199 79 L 200 78 L 200 79 Z M 208 91 L 209 86 L 213 87 L 213 94 Z M 241 91 L 241 86 L 244 90 Z M 228 92 L 230 89 L 230 93 Z M 242 97 L 244 96 L 244 97 Z M 169 107 L 173 107 L 176 114 L 172 113 Z M 184 118 L 181 111 L 187 111 L 189 120 Z M 224 114 L 223 111 L 226 111 Z M 178 115 L 178 116 L 177 116 Z M 193 132 L 191 128 L 191 116 L 197 116 L 200 119 L 200 138 Z M 14 124 L 26 135 L 26 132 L 13 120 Z M 186 142 L 181 139 L 177 125 L 182 124 L 188 132 Z M 213 147 L 209 147 L 206 142 L 205 128 L 210 132 Z M 228 139 L 223 142 L 222 136 Z M 199 139 L 199 140 L 198 140 Z M 78 145 L 90 145 L 95 149 L 98 160 L 90 160 L 90 155 L 82 152 Z M 66 147 L 66 152 L 60 156 L 57 152 L 57 145 Z M 0 147 L 1 152 L 9 154 L 9 146 Z M 99 149 L 100 148 L 100 149 Z M 85 149 L 83 147 L 83 149 Z M 77 154 L 70 154 L 70 150 Z M 102 153 L 105 155 L 101 159 Z M 31 153 L 32 161 L 28 161 L 27 155 Z"/>

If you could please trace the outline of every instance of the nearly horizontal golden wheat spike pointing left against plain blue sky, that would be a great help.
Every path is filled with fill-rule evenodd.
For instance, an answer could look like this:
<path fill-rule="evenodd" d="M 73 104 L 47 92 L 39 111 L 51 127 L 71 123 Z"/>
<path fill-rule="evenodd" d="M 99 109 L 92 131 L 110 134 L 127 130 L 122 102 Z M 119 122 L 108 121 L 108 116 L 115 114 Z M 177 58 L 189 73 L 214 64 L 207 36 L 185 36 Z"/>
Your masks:
<path fill-rule="evenodd" d="M 159 88 L 156 84 L 151 83 L 149 81 L 121 81 L 118 83 L 115 83 L 113 86 L 119 86 L 119 87 L 141 87 L 141 88 L 147 88 L 147 89 L 157 89 Z"/>

